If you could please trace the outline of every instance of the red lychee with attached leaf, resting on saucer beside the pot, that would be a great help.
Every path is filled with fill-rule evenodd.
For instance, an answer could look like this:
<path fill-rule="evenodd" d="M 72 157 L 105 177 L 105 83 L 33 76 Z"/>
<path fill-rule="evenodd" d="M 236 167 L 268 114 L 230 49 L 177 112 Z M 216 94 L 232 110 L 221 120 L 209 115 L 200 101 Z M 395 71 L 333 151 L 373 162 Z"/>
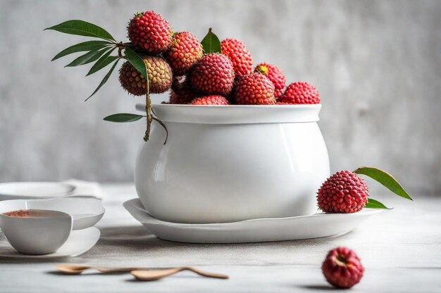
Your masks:
<path fill-rule="evenodd" d="M 339 171 L 318 189 L 317 204 L 326 213 L 354 213 L 364 208 L 368 196 L 363 178 L 351 171 Z"/>

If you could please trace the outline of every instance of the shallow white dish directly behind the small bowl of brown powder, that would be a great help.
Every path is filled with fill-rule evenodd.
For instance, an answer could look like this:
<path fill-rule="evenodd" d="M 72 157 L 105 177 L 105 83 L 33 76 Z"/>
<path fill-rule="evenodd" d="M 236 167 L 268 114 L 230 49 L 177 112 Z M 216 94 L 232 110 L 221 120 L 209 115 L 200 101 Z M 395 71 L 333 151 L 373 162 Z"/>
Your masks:
<path fill-rule="evenodd" d="M 73 219 L 73 230 L 94 226 L 106 211 L 96 197 L 62 197 L 49 200 L 4 200 L 0 202 L 0 213 L 19 209 L 49 209 L 63 211 Z"/>

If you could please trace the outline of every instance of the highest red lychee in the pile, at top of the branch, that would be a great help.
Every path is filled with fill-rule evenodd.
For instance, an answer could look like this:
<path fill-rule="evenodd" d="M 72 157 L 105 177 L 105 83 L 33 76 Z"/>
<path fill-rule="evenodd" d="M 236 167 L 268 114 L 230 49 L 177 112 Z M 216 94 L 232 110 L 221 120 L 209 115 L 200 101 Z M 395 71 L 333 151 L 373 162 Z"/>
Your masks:
<path fill-rule="evenodd" d="M 129 22 L 128 35 L 135 47 L 154 54 L 167 51 L 172 41 L 168 21 L 154 11 L 135 14 Z"/>

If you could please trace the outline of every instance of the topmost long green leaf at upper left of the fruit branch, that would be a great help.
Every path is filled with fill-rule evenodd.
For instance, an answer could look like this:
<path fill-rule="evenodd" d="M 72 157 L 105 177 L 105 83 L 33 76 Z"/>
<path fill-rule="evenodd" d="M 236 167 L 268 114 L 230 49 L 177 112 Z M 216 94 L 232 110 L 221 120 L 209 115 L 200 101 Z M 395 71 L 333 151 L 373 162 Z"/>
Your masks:
<path fill-rule="evenodd" d="M 59 25 L 48 27 L 45 30 L 56 30 L 65 34 L 77 34 L 84 37 L 95 37 L 115 41 L 111 34 L 98 25 L 86 22 L 84 20 L 68 20 L 61 22 Z"/>

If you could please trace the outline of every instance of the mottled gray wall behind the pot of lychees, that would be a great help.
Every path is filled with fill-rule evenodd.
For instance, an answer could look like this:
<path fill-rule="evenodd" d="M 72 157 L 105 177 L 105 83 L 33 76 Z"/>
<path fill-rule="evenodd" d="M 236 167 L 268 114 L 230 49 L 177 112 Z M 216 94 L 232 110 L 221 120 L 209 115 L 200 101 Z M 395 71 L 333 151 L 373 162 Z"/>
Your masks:
<path fill-rule="evenodd" d="M 441 193 L 441 1 L 23 1 L 0 0 L 0 181 L 70 177 L 132 181 L 144 122 L 117 75 L 87 103 L 103 74 L 50 62 L 82 40 L 45 27 L 94 22 L 126 37 L 137 11 L 161 13 L 178 31 L 247 44 L 254 62 L 321 92 L 331 168 L 381 167 L 411 193 Z M 159 99 L 166 98 L 159 96 Z M 383 189 L 371 184 L 371 190 Z M 381 191 L 380 191 L 381 190 Z"/>

